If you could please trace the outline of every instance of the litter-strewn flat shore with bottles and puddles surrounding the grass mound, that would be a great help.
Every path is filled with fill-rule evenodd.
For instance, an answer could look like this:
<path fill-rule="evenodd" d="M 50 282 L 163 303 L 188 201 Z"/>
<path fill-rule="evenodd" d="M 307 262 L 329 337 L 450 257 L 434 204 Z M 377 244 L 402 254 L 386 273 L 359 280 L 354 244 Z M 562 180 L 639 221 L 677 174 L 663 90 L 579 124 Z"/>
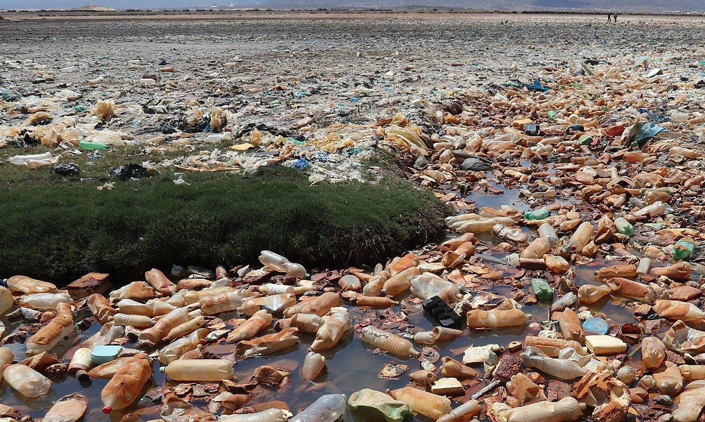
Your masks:
<path fill-rule="evenodd" d="M 392 154 L 456 213 L 444 242 L 376 266 L 310 268 L 263 250 L 237 266 L 145 268 L 140 280 L 0 272 L 0 416 L 700 420 L 705 49 L 688 36 L 705 22 L 439 14 L 429 26 L 446 32 L 429 34 L 419 17 L 395 27 L 369 16 L 233 21 L 252 31 L 233 37 L 269 54 L 203 47 L 202 33 L 169 44 L 164 34 L 205 27 L 190 20 L 154 35 L 158 57 L 92 45 L 49 63 L 35 34 L 18 37 L 21 55 L 0 49 L 0 174 L 110 189 L 154 171 L 179 185 L 190 172 L 279 163 L 316 185 L 374 182 L 363 159 Z M 463 23 L 501 38 L 473 44 Z M 65 42 L 59 21 L 37 25 Z M 114 42 L 136 46 L 154 22 L 135 25 Z M 329 47 L 357 32 L 326 58 L 307 41 L 320 25 Z M 80 42 L 109 43 L 111 31 Z M 454 43 L 439 53 L 443 38 Z M 353 45 L 364 48 L 343 53 Z M 209 54 L 179 66 L 199 48 Z M 57 168 L 127 147 L 147 174 Z"/>

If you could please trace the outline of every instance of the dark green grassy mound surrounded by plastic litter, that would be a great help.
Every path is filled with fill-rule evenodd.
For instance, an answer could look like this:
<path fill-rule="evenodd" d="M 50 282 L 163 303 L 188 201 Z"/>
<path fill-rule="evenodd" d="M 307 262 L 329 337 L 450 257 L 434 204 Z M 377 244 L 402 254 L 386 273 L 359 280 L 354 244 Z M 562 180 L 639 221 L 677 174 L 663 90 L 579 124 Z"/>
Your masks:
<path fill-rule="evenodd" d="M 139 277 L 174 263 L 250 263 L 262 249 L 307 268 L 375 263 L 436 240 L 448 215 L 430 191 L 398 178 L 310 187 L 304 173 L 271 166 L 187 173 L 190 185 L 175 185 L 166 173 L 102 191 L 97 180 L 56 175 L 3 183 L 0 276 Z"/>

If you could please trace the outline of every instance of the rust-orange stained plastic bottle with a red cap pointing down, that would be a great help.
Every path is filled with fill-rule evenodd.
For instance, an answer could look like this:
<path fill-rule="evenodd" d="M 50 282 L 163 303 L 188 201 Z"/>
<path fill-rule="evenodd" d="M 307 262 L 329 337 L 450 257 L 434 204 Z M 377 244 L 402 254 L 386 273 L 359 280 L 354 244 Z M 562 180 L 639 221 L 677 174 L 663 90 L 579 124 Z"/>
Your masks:
<path fill-rule="evenodd" d="M 140 397 L 142 388 L 152 376 L 152 365 L 142 356 L 145 354 L 138 354 L 125 361 L 125 364 L 118 369 L 103 388 L 100 398 L 105 405 L 103 407 L 104 414 L 125 409 L 133 404 L 137 397 Z"/>

